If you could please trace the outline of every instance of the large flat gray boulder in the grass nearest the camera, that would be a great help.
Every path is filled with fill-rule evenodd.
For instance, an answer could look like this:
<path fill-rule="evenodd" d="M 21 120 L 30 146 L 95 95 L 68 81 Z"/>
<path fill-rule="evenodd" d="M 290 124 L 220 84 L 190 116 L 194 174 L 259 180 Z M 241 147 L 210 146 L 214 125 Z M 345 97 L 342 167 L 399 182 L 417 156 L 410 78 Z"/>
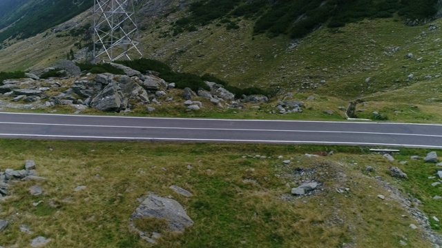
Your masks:
<path fill-rule="evenodd" d="M 135 209 L 129 223 L 131 227 L 138 231 L 140 236 L 146 237 L 152 234 L 145 234 L 133 225 L 133 220 L 139 218 L 159 218 L 165 219 L 168 223 L 169 231 L 182 232 L 184 228 L 193 225 L 193 220 L 186 214 L 186 210 L 176 200 L 148 194 L 139 207 Z"/>

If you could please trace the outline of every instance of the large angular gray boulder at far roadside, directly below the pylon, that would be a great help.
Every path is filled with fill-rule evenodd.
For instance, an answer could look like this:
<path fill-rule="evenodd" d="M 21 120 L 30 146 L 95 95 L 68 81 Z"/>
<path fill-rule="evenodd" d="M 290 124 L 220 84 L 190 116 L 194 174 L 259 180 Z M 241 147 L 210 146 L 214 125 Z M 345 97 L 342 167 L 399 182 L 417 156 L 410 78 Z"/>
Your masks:
<path fill-rule="evenodd" d="M 117 83 L 110 83 L 90 102 L 90 106 L 101 111 L 119 111 L 126 109 L 126 99 Z"/>

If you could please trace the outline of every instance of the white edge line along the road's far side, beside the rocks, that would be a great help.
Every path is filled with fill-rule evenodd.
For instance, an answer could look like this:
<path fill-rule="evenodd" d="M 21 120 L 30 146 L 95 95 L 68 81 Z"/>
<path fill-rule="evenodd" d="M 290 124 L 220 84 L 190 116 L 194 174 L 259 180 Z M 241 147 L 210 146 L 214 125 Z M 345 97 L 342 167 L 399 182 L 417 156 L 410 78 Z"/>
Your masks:
<path fill-rule="evenodd" d="M 40 114 L 40 113 L 15 113 L 0 112 L 0 114 L 17 114 L 17 115 L 39 115 L 39 116 L 69 116 L 69 117 L 95 117 L 95 118 L 141 118 L 141 119 L 159 119 L 159 120 L 189 120 L 189 121 L 253 121 L 253 122 L 294 122 L 294 123 L 347 123 L 347 124 L 387 124 L 387 125 L 432 125 L 442 126 L 442 124 L 428 123 L 388 123 L 388 122 L 352 122 L 352 121 L 297 121 L 297 120 L 257 120 L 257 119 L 222 119 L 222 118 L 169 118 L 169 117 L 141 117 L 141 116 L 97 116 L 84 114 Z"/>

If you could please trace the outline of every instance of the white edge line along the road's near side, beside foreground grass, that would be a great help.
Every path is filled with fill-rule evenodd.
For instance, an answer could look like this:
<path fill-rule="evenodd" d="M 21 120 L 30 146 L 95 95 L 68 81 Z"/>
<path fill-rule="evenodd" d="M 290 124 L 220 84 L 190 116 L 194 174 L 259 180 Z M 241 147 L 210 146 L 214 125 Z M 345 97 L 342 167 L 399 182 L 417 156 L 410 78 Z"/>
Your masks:
<path fill-rule="evenodd" d="M 437 145 L 401 145 L 390 143 L 357 143 L 357 142 L 332 142 L 332 141 L 263 141 L 263 140 L 240 140 L 240 139 L 215 139 L 215 138 L 137 138 L 137 137 L 108 137 L 108 136 L 72 136 L 72 135 L 47 135 L 47 134 L 0 134 L 0 137 L 37 137 L 37 138 L 77 138 L 77 139 L 102 139 L 102 140 L 125 140 L 125 141 L 182 141 L 182 142 L 245 142 L 245 143 L 286 143 L 286 144 L 318 144 L 318 145 L 379 145 L 394 147 L 421 147 L 437 148 Z"/>

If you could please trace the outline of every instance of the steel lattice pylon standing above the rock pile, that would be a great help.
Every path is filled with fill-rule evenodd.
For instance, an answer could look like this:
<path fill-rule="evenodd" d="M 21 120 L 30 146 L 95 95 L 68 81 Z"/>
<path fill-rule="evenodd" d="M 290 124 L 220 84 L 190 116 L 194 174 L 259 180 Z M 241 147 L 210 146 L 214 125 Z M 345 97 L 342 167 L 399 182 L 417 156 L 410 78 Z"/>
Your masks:
<path fill-rule="evenodd" d="M 133 1 L 94 1 L 94 60 L 141 58 Z"/>

